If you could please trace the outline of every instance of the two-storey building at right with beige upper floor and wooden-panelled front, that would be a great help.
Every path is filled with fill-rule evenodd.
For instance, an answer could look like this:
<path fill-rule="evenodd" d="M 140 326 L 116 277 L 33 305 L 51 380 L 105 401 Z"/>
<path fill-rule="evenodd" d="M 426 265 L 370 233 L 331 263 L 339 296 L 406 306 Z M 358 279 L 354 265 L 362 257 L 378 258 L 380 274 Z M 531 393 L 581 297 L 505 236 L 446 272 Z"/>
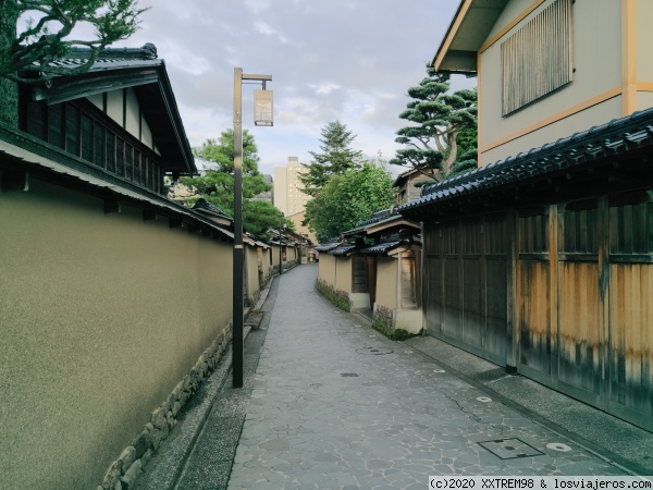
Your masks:
<path fill-rule="evenodd" d="M 649 430 L 652 19 L 461 1 L 434 68 L 479 75 L 481 167 L 398 208 L 422 222 L 429 334 Z"/>

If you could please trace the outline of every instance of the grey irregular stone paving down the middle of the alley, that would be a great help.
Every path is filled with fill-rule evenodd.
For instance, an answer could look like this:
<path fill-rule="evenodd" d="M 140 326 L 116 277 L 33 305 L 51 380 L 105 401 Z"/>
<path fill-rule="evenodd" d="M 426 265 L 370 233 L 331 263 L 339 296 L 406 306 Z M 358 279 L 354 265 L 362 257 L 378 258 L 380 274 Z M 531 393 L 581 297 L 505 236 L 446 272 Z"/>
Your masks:
<path fill-rule="evenodd" d="M 624 475 L 283 275 L 230 489 L 423 489 L 435 475 Z M 206 483 L 202 488 L 214 488 Z"/>

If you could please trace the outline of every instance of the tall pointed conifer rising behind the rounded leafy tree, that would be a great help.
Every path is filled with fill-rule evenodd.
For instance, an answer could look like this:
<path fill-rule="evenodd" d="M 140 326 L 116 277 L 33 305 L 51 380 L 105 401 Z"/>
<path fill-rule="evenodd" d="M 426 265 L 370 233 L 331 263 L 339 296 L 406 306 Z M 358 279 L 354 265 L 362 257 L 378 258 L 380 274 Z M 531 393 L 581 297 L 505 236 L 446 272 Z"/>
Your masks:
<path fill-rule="evenodd" d="M 307 171 L 299 174 L 304 192 L 315 196 L 331 175 L 342 175 L 348 170 L 361 167 L 362 152 L 350 147 L 356 138 L 340 121 L 328 123 L 321 131 L 321 151 L 309 151 L 312 161 L 305 166 Z"/>

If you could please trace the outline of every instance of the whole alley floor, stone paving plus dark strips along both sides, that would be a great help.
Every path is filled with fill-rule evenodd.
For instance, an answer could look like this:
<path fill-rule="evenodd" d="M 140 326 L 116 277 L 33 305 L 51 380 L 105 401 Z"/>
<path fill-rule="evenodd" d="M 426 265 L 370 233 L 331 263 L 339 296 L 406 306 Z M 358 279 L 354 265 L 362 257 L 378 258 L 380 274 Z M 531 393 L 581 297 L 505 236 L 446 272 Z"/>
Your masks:
<path fill-rule="evenodd" d="M 653 434 L 584 406 L 579 417 L 611 420 L 583 418 L 612 430 L 604 436 L 617 449 L 592 442 L 590 429 L 587 440 L 567 433 L 528 401 L 420 352 L 421 338 L 390 341 L 336 309 L 315 292 L 316 275 L 301 266 L 274 280 L 245 343 L 245 387 L 215 371 L 206 383 L 214 394 L 198 393 L 136 488 L 423 489 L 435 475 L 653 473 Z M 490 371 L 497 387 L 519 378 Z M 617 455 L 619 441 L 631 458 Z"/>

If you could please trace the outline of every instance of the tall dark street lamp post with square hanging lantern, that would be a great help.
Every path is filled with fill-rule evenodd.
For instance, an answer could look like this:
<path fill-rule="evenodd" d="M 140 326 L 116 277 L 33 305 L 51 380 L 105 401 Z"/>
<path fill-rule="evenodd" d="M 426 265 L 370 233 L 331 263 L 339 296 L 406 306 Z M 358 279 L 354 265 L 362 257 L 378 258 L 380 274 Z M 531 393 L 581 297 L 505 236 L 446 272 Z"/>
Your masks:
<path fill-rule="evenodd" d="M 234 256 L 233 256 L 233 388 L 243 388 L 243 323 L 244 299 L 243 275 L 245 252 L 243 248 L 243 81 L 262 83 L 262 90 L 255 90 L 254 123 L 272 126 L 272 90 L 266 90 L 266 82 L 272 75 L 243 74 L 242 68 L 234 69 Z"/>

